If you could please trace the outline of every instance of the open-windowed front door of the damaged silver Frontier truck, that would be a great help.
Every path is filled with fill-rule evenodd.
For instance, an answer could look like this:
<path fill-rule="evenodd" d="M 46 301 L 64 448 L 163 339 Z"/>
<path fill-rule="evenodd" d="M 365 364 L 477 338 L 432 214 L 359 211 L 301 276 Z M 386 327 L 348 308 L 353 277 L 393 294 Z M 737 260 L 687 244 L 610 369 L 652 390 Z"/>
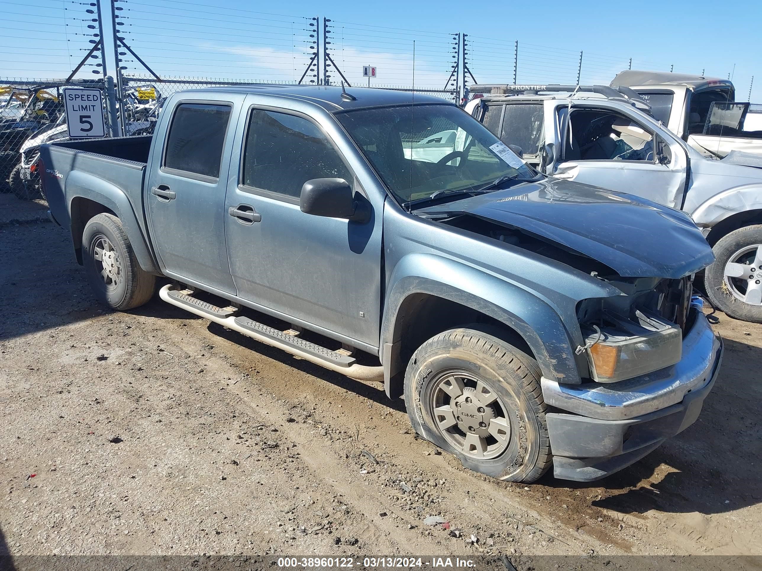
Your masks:
<path fill-rule="evenodd" d="M 687 155 L 668 132 L 605 103 L 575 102 L 571 122 L 566 105 L 554 105 L 553 113 L 559 151 L 552 176 L 682 206 Z"/>

